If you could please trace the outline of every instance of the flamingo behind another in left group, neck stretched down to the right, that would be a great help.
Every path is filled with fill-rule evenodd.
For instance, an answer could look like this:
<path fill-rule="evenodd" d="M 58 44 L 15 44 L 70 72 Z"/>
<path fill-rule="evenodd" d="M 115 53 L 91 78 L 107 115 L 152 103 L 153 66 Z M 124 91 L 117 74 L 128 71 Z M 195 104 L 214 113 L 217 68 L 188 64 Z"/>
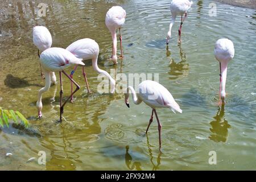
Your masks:
<path fill-rule="evenodd" d="M 92 59 L 92 66 L 93 69 L 98 72 L 104 74 L 106 77 L 109 78 L 110 80 L 110 86 L 111 86 L 111 93 L 114 93 L 115 90 L 115 80 L 109 75 L 108 72 L 100 69 L 98 67 L 97 61 L 98 61 L 98 53 L 100 52 L 100 48 L 98 47 L 97 42 L 92 39 L 80 39 L 77 40 L 76 42 L 72 43 L 66 48 L 69 52 L 73 53 L 77 58 L 83 59 L 83 60 L 88 60 Z M 75 66 L 73 71 L 71 72 L 71 75 L 69 75 L 71 78 L 73 78 L 73 74 L 75 73 L 78 65 Z M 84 76 L 85 83 L 87 86 L 88 93 L 90 93 L 89 89 L 89 84 L 86 78 L 86 73 L 84 70 L 84 66 L 82 66 L 82 75 Z M 71 93 L 73 92 L 73 84 L 71 81 Z M 71 102 L 73 102 L 73 96 L 71 97 Z"/>

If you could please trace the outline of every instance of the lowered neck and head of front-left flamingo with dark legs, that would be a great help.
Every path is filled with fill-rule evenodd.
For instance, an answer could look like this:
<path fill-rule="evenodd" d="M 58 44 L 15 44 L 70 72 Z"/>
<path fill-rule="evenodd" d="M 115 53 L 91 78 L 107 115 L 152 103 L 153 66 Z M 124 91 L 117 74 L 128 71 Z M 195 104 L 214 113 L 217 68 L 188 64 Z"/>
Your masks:
<path fill-rule="evenodd" d="M 38 108 L 38 117 L 42 117 L 42 109 L 43 109 L 43 104 L 42 104 L 42 96 L 44 92 L 47 92 L 51 86 L 51 76 L 50 72 L 44 71 L 44 76 L 46 80 L 46 85 L 39 90 L 38 93 L 38 101 L 36 102 L 36 107 Z"/>

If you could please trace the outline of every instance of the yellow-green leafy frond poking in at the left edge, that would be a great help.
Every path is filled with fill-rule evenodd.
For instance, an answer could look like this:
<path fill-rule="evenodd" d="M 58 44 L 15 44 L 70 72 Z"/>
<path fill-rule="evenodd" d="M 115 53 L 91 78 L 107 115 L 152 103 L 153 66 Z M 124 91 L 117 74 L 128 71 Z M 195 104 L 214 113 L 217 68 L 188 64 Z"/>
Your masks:
<path fill-rule="evenodd" d="M 4 127 L 4 125 L 9 127 L 9 121 L 11 119 L 16 124 L 18 124 L 19 121 L 21 121 L 22 123 L 24 123 L 26 127 L 28 127 L 28 121 L 22 113 L 20 113 L 19 111 L 2 109 L 2 107 L 0 107 L 0 127 Z"/>

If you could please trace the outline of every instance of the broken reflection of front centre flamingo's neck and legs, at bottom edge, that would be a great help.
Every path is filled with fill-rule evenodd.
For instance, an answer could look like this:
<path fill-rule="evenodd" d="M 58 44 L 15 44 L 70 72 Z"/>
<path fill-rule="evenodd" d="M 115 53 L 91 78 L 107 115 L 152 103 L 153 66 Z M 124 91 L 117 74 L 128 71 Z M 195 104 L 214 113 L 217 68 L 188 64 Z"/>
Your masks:
<path fill-rule="evenodd" d="M 146 135 L 147 137 L 147 135 Z M 151 145 L 149 143 L 148 137 L 147 137 L 147 147 L 148 147 L 148 155 L 150 156 L 150 162 L 152 164 L 152 171 L 156 171 L 157 169 L 159 169 L 159 166 L 161 164 L 161 155 L 162 152 L 159 150 L 159 154 L 158 157 L 156 158 L 156 164 L 154 163 L 153 159 L 153 153 L 151 150 Z M 141 162 L 135 161 L 133 162 L 133 158 L 132 156 L 129 154 L 129 146 L 126 146 L 126 154 L 125 154 L 125 164 L 127 166 L 127 168 L 129 168 L 130 170 L 136 169 L 137 171 L 142 171 L 142 165 Z"/>

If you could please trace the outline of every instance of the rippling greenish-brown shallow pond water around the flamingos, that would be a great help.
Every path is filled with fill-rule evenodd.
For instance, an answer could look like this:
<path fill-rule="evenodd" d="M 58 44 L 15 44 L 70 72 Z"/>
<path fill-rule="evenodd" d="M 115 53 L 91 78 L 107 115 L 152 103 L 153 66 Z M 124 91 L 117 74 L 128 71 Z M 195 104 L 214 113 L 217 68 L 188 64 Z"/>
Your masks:
<path fill-rule="evenodd" d="M 1 2 L 0 105 L 23 113 L 30 128 L 0 129 L 0 169 L 256 169 L 256 13 L 216 2 L 217 16 L 209 16 L 210 2 L 194 1 L 180 46 L 176 19 L 168 51 L 164 38 L 171 17 L 169 1 L 44 1 L 48 8 L 43 18 L 36 15 L 39 1 L 12 6 Z M 127 13 L 122 28 L 125 58 L 117 66 L 106 61 L 112 43 L 105 13 L 113 5 Z M 38 90 L 44 85 L 31 37 L 36 24 L 48 27 L 53 47 L 95 39 L 100 45 L 99 67 L 108 72 L 159 73 L 160 84 L 183 110 L 158 110 L 163 125 L 160 151 L 155 120 L 148 135 L 143 134 L 150 107 L 131 103 L 128 109 L 122 94 L 97 93 L 99 82 L 90 61 L 86 73 L 93 93 L 87 94 L 79 68 L 74 79 L 81 89 L 75 104 L 65 106 L 63 123 L 56 122 L 59 84 L 43 95 L 43 119 L 35 119 Z M 236 53 L 228 65 L 227 103 L 219 108 L 213 48 L 223 37 L 233 41 Z M 69 92 L 64 79 L 66 98 Z M 39 151 L 46 152 L 45 166 L 37 163 Z M 217 165 L 208 163 L 209 151 L 216 151 Z M 7 152 L 13 155 L 6 157 Z M 27 162 L 32 157 L 36 159 Z"/>

